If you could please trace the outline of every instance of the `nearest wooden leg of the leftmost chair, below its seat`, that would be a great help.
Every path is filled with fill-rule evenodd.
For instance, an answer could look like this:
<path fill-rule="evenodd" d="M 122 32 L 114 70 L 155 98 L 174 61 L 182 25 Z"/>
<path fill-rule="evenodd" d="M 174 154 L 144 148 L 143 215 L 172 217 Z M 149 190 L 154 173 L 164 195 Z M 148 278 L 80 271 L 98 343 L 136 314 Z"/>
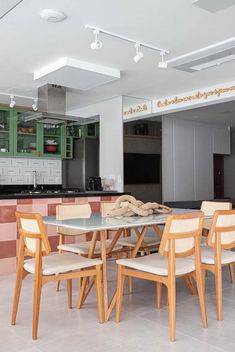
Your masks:
<path fill-rule="evenodd" d="M 38 318 L 39 318 L 41 291 L 42 291 L 42 279 L 41 279 L 41 276 L 34 275 L 33 333 L 32 333 L 33 340 L 37 340 L 37 335 L 38 335 Z"/>

